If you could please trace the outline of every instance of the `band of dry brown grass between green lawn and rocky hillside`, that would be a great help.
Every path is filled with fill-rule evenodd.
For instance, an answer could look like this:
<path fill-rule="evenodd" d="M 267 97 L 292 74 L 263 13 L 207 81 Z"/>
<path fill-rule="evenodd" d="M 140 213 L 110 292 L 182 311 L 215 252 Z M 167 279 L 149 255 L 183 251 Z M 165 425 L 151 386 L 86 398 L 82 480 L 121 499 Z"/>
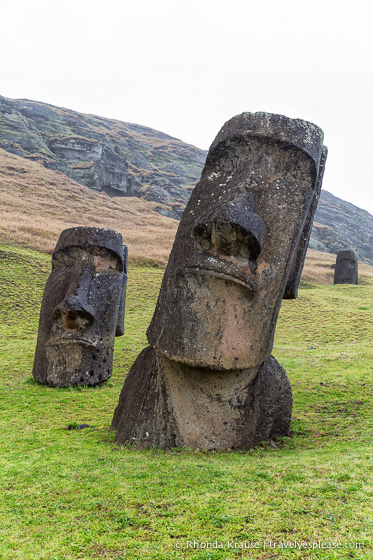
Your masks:
<path fill-rule="evenodd" d="M 178 222 L 139 198 L 110 198 L 39 163 L 0 149 L 0 241 L 51 253 L 61 231 L 79 225 L 120 231 L 133 263 L 164 266 Z M 302 280 L 332 284 L 335 255 L 309 250 Z M 373 267 L 359 263 L 359 277 Z"/>

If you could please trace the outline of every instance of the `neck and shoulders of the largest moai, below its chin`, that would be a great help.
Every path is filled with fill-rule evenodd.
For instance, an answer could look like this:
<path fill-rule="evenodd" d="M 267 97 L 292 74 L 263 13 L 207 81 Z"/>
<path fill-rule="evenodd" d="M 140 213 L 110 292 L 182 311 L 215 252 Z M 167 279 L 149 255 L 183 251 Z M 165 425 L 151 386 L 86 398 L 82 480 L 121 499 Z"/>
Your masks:
<path fill-rule="evenodd" d="M 111 428 L 138 447 L 250 449 L 290 430 L 292 391 L 270 356 L 258 368 L 212 371 L 165 358 L 152 347 L 125 380 Z"/>

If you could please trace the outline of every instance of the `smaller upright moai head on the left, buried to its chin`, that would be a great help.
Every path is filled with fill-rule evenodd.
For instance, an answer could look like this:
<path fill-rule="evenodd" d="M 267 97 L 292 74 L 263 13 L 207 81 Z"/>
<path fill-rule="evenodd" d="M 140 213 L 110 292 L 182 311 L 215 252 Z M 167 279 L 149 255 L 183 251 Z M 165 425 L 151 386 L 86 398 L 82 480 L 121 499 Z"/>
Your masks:
<path fill-rule="evenodd" d="M 61 233 L 44 290 L 34 378 L 51 387 L 97 385 L 112 374 L 124 333 L 127 247 L 110 229 Z"/>

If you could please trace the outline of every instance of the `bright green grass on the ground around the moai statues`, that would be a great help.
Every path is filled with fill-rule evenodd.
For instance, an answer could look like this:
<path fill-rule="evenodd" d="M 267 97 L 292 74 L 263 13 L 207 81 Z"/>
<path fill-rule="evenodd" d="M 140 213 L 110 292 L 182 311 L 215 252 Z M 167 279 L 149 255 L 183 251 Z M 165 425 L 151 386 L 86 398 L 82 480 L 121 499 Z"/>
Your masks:
<path fill-rule="evenodd" d="M 50 389 L 31 377 L 50 257 L 0 250 L 1 559 L 373 558 L 372 286 L 284 301 L 273 354 L 293 386 L 294 437 L 248 453 L 140 452 L 109 426 L 162 271 L 129 271 L 110 381 Z M 318 541 L 364 548 L 284 548 Z"/>

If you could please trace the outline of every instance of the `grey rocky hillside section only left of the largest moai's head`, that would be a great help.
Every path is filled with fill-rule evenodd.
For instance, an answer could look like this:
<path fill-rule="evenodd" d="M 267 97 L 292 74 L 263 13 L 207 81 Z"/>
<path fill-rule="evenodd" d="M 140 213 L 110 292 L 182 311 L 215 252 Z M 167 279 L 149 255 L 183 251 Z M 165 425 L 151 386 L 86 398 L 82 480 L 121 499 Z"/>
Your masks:
<path fill-rule="evenodd" d="M 1 96 L 0 148 L 110 196 L 149 193 L 159 212 L 174 218 L 180 218 L 206 155 L 145 126 Z M 175 189 L 169 199 L 164 187 Z"/>

